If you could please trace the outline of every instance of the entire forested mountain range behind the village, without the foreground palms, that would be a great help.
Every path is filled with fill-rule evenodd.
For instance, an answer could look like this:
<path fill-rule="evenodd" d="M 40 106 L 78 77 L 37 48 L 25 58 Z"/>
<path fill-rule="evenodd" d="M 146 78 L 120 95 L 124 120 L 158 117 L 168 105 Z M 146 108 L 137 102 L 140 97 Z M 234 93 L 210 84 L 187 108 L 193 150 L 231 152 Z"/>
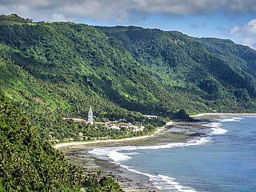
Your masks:
<path fill-rule="evenodd" d="M 104 122 L 255 112 L 256 52 L 227 40 L 14 14 L 0 16 L 0 50 L 1 91 L 39 133 L 64 131 L 63 117 L 89 106 Z"/>

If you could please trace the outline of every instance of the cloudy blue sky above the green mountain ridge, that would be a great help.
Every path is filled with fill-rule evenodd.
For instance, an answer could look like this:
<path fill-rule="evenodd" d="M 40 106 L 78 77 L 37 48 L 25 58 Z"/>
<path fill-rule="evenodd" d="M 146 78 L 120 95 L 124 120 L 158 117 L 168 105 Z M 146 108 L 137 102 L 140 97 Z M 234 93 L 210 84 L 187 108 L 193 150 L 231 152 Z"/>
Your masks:
<path fill-rule="evenodd" d="M 256 50 L 255 0 L 0 0 L 0 15 L 92 26 L 177 30 Z"/>

